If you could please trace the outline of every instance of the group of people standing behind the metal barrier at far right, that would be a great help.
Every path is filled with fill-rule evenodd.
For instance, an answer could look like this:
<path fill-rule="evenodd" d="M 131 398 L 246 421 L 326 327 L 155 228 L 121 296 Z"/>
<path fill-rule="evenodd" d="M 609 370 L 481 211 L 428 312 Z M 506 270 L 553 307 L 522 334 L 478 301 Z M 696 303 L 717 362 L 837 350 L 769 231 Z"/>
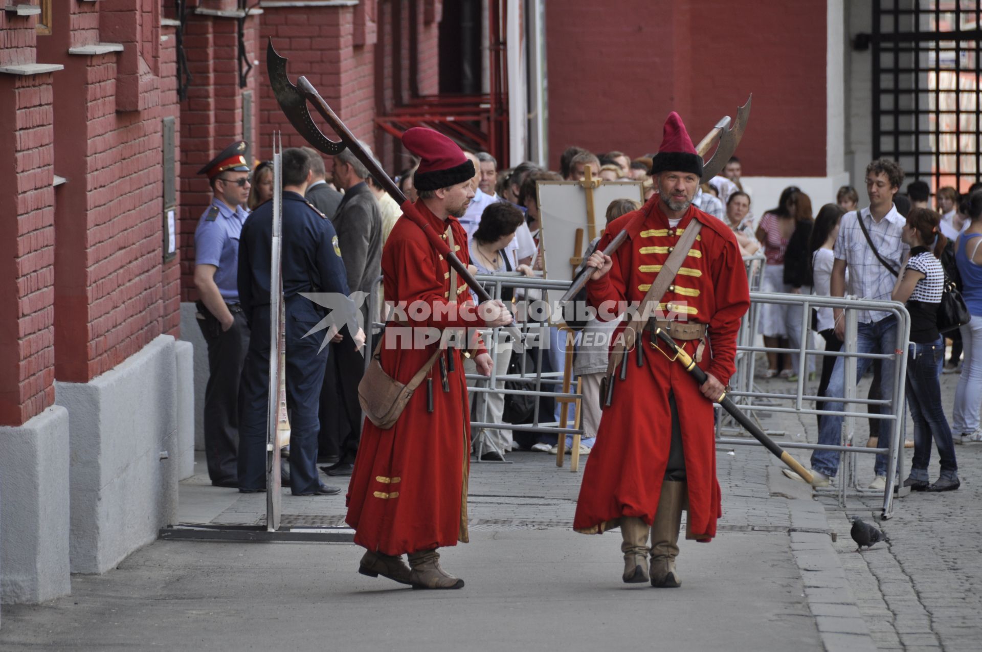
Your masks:
<path fill-rule="evenodd" d="M 762 290 L 904 302 L 910 315 L 906 405 L 914 423 L 913 438 L 907 445 L 914 451 L 903 485 L 915 491 L 951 491 L 960 485 L 955 444 L 982 442 L 978 432 L 982 393 L 977 388 L 982 379 L 982 357 L 977 347 L 973 349 L 979 342 L 975 333 L 982 322 L 982 316 L 977 316 L 982 315 L 982 258 L 975 257 L 972 242 L 976 231 L 982 234 L 982 229 L 976 228 L 982 226 L 976 224 L 982 217 L 982 184 L 973 185 L 961 198 L 954 188 L 941 188 L 932 208 L 927 184 L 913 181 L 900 192 L 903 178 L 895 161 L 873 161 L 866 169 L 866 207 L 860 206 L 855 189 L 843 187 L 836 201 L 823 205 L 817 215 L 806 193 L 795 187 L 785 189 L 778 206 L 761 217 L 755 234 L 766 258 Z M 939 306 L 952 286 L 963 297 L 971 321 L 958 328 L 946 324 L 942 331 Z M 807 319 L 804 325 L 803 319 Z M 894 353 L 898 324 L 893 314 L 859 310 L 857 321 L 860 353 Z M 796 306 L 768 303 L 760 321 L 765 346 L 778 349 L 799 349 L 801 334 L 805 333 L 809 338 L 821 336 L 825 351 L 838 352 L 843 347 L 845 328 L 843 310 L 828 307 L 804 315 Z M 946 340 L 953 343 L 947 367 Z M 963 362 L 959 361 L 962 353 Z M 815 379 L 810 360 L 801 366 L 795 355 L 784 356 L 783 361 L 777 353 L 767 357 L 767 378 L 797 380 L 799 370 L 804 369 L 810 380 Z M 867 398 L 890 399 L 894 360 L 858 358 L 856 382 L 867 371 L 873 376 Z M 941 397 L 943 372 L 961 373 L 955 405 L 949 412 L 954 416 L 951 425 Z M 818 409 L 843 410 L 844 373 L 844 358 L 822 357 L 817 396 L 827 401 L 817 403 Z M 877 409 L 869 407 L 870 411 Z M 818 417 L 819 444 L 840 443 L 842 418 Z M 888 447 L 891 434 L 889 422 L 870 419 L 869 446 Z M 931 482 L 928 466 L 933 447 L 938 450 L 941 469 Z M 812 454 L 815 486 L 829 485 L 838 471 L 839 457 L 834 451 Z M 887 462 L 886 456 L 877 456 L 870 488 L 882 490 L 886 486 Z M 800 479 L 791 471 L 785 473 Z"/>

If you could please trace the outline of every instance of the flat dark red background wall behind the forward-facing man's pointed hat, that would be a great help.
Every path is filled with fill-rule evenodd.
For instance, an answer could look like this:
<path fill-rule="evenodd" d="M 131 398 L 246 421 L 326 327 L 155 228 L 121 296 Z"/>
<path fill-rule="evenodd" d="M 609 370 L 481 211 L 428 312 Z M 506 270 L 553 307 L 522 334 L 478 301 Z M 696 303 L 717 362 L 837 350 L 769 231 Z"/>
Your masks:
<path fill-rule="evenodd" d="M 645 0 L 568 0 L 546 7 L 554 169 L 573 144 L 631 156 L 656 151 L 673 110 L 698 140 L 752 91 L 738 150 L 743 173 L 825 176 L 825 2 L 682 0 L 658 3 L 656 11 Z"/>

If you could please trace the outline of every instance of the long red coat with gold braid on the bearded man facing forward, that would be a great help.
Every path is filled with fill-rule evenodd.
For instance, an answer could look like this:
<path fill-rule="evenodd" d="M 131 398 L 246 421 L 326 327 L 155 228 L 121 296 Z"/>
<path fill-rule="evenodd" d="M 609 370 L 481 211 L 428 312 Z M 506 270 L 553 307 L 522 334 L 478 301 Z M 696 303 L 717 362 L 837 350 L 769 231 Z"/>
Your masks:
<path fill-rule="evenodd" d="M 627 243 L 613 256 L 611 271 L 587 285 L 587 300 L 640 301 L 653 283 L 669 248 L 677 244 L 692 220 L 702 230 L 679 275 L 662 299 L 675 307 L 673 319 L 707 325 L 709 347 L 699 367 L 726 385 L 734 374 L 736 331 L 750 305 L 739 245 L 719 219 L 690 206 L 676 229 L 670 229 L 658 195 L 640 208 L 643 221 L 629 231 Z M 600 250 L 637 215 L 627 213 L 607 227 Z M 682 342 L 680 342 L 682 344 Z M 615 527 L 621 516 L 638 516 L 651 524 L 658 509 L 662 480 L 672 441 L 669 393 L 674 392 L 682 426 L 682 448 L 688 482 L 688 527 L 692 538 L 708 541 L 716 535 L 722 516 L 720 485 L 716 479 L 713 406 L 682 364 L 670 362 L 649 343 L 644 332 L 636 346 L 644 351 L 644 365 L 635 353 L 627 354 L 627 380 L 618 379 L 613 402 L 606 407 L 597 431 L 597 443 L 583 472 L 573 528 L 593 534 Z M 685 344 L 694 356 L 696 342 Z"/>

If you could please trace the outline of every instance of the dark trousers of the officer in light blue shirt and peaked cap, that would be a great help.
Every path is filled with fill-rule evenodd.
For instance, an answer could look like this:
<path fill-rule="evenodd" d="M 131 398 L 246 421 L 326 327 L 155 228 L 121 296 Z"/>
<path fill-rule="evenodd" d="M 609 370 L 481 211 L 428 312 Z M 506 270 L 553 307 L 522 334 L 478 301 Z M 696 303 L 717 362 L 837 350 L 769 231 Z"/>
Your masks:
<path fill-rule="evenodd" d="M 230 305 L 235 318 L 222 330 L 218 319 L 197 302 L 197 325 L 208 348 L 208 383 L 204 388 L 204 456 L 212 482 L 235 483 L 239 450 L 239 378 L 248 347 L 246 315 Z"/>

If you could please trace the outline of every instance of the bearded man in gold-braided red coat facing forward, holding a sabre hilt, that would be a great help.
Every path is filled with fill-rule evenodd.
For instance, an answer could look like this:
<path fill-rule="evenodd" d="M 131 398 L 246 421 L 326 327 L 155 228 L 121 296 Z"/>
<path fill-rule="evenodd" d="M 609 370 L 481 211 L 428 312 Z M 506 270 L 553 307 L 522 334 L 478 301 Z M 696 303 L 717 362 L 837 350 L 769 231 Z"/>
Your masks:
<path fill-rule="evenodd" d="M 627 379 L 619 379 L 620 370 L 617 380 L 610 379 L 616 383 L 613 398 L 583 473 L 573 528 L 593 534 L 620 525 L 624 581 L 650 579 L 652 586 L 674 587 L 681 585 L 675 559 L 682 509 L 688 510 L 686 537 L 699 541 L 715 536 L 722 515 L 712 404 L 735 372 L 736 331 L 750 299 L 733 233 L 692 205 L 702 158 L 674 112 L 652 174 L 658 193 L 608 225 L 588 259 L 597 270 L 587 284 L 587 300 L 601 318 L 605 307 L 607 315 L 617 315 L 624 310 L 611 306 L 639 302 L 685 229 L 697 221 L 701 230 L 661 299 L 659 319 L 684 322 L 668 330 L 678 331 L 679 344 L 708 380 L 698 386 L 681 364 L 663 354 L 651 333 L 657 322 L 647 322 L 634 345 L 640 355 L 626 354 Z M 604 255 L 603 248 L 626 227 L 628 241 L 613 257 Z"/>

